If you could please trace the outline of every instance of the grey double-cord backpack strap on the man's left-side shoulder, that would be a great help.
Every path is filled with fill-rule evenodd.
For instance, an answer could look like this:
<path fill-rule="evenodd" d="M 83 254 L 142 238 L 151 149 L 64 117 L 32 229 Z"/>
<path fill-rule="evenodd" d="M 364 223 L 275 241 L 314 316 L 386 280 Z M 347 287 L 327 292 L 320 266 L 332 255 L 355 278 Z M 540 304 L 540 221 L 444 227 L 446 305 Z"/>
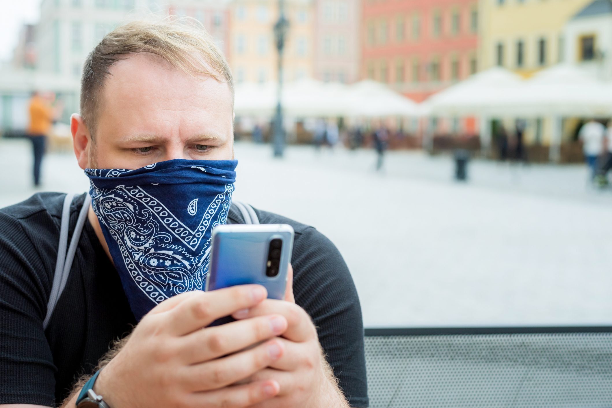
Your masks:
<path fill-rule="evenodd" d="M 62 223 L 59 230 L 59 246 L 58 246 L 58 259 L 55 262 L 55 273 L 53 275 L 53 286 L 51 287 L 51 294 L 49 295 L 49 302 L 47 303 L 47 316 L 43 321 L 43 328 L 47 329 L 53 310 L 58 304 L 59 297 L 64 291 L 68 276 L 70 275 L 70 268 L 72 268 L 72 261 L 75 258 L 76 247 L 83 231 L 85 220 L 87 219 L 87 212 L 89 210 L 89 202 L 91 197 L 85 196 L 83 207 L 76 220 L 75 231 L 70 239 L 70 246 L 68 245 L 68 232 L 70 228 L 70 205 L 74 194 L 67 194 L 64 199 L 64 207 L 62 208 Z"/>

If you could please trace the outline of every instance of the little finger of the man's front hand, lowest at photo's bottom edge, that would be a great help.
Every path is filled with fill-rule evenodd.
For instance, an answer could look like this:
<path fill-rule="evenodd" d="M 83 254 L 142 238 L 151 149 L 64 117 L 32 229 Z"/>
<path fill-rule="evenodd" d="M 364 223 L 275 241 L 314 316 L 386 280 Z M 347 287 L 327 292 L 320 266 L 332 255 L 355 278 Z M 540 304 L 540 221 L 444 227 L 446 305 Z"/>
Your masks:
<path fill-rule="evenodd" d="M 191 395 L 193 401 L 190 401 L 189 405 L 193 407 L 244 408 L 274 398 L 278 395 L 278 391 L 280 391 L 280 385 L 275 380 L 256 381 L 207 393 L 194 393 Z"/>

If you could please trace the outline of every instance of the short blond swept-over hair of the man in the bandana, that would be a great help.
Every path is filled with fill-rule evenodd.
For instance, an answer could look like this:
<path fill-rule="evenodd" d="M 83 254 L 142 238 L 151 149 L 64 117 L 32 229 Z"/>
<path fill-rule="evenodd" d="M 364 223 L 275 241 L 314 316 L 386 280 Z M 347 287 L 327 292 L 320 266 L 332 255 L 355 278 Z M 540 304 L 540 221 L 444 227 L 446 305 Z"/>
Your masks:
<path fill-rule="evenodd" d="M 102 87 L 110 67 L 133 54 L 152 54 L 182 72 L 212 76 L 234 92 L 230 66 L 212 36 L 197 20 L 168 16 L 162 20 L 138 20 L 109 32 L 89 53 L 81 77 L 81 116 L 94 135 L 102 107 Z"/>

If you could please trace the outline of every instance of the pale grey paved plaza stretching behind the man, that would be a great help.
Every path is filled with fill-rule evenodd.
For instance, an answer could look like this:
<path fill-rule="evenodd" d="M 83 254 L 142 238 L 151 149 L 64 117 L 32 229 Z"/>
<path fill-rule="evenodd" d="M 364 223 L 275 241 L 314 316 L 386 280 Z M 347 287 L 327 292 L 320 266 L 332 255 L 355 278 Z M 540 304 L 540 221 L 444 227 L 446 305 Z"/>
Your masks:
<path fill-rule="evenodd" d="M 27 198 L 31 147 L 0 140 L 0 207 Z M 370 150 L 319 154 L 238 143 L 235 198 L 311 224 L 340 249 L 367 327 L 612 324 L 612 191 L 583 166 Z M 43 190 L 82 192 L 71 152 L 43 163 Z"/>

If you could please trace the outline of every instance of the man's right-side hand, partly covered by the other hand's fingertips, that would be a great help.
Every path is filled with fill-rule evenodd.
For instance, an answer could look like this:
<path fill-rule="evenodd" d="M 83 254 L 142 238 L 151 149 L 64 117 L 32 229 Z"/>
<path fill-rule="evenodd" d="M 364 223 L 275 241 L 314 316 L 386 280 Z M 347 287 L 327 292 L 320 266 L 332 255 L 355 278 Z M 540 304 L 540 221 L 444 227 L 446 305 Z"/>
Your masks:
<path fill-rule="evenodd" d="M 293 294 L 291 298 L 293 300 Z M 267 299 L 232 316 L 248 321 L 273 314 L 285 316 L 289 324 L 280 339 L 285 352 L 269 368 L 258 371 L 240 384 L 275 380 L 280 391 L 274 399 L 255 404 L 255 407 L 348 407 L 323 356 L 315 325 L 304 309 L 292 302 Z"/>

